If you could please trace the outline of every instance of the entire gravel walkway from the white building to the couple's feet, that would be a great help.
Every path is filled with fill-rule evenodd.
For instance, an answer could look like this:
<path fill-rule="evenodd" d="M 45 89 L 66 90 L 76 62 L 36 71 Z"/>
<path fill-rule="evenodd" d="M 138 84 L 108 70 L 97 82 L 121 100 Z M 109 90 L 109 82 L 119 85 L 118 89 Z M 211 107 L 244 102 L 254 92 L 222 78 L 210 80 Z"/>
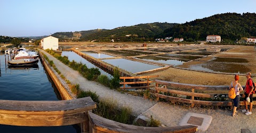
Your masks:
<path fill-rule="evenodd" d="M 61 74 L 70 80 L 72 84 L 79 84 L 83 90 L 96 92 L 100 98 L 110 98 L 114 99 L 119 105 L 128 105 L 132 108 L 134 115 L 140 115 L 144 112 L 142 115 L 146 115 L 148 118 L 152 115 L 154 119 L 160 120 L 165 126 L 170 127 L 179 126 L 179 122 L 188 112 L 201 113 L 210 115 L 212 122 L 206 131 L 199 130 L 198 132 L 241 132 L 241 129 L 245 128 L 256 132 L 255 109 L 253 109 L 251 115 L 245 115 L 239 109 L 238 117 L 231 117 L 231 111 L 227 109 L 210 109 L 210 107 L 189 108 L 187 106 L 157 103 L 141 97 L 121 94 L 116 90 L 100 85 L 98 82 L 86 80 L 77 71 L 69 68 L 50 54 L 42 50 L 41 52 L 47 55 L 50 60 L 53 60 Z"/>

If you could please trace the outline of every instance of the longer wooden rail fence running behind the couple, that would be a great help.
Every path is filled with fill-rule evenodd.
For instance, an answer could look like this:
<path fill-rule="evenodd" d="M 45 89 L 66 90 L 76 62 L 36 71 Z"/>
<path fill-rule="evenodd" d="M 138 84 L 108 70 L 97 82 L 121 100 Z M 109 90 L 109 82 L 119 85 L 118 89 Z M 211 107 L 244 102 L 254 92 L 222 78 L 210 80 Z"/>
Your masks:
<path fill-rule="evenodd" d="M 233 103 L 230 101 L 201 101 L 195 100 L 195 97 L 205 97 L 205 98 L 228 98 L 228 89 L 229 86 L 206 86 L 206 85 L 191 85 L 191 84 L 181 84 L 177 82 L 169 82 L 169 81 L 162 81 L 162 80 L 155 80 L 156 87 L 154 95 L 159 98 L 164 98 L 169 101 L 174 102 L 182 102 L 182 103 L 189 103 L 191 106 L 194 104 L 200 105 L 211 105 L 211 106 L 232 106 Z M 168 89 L 167 87 L 159 87 L 159 85 L 170 86 L 173 88 L 183 88 L 183 89 L 191 89 L 191 92 L 185 90 L 175 90 L 175 89 Z M 195 93 L 195 90 L 226 90 L 224 94 L 206 94 L 206 93 Z M 161 93 L 170 93 L 170 94 L 177 94 L 183 96 L 190 96 L 190 99 L 175 97 L 175 96 L 168 96 Z M 255 95 L 253 96 L 255 97 Z M 240 105 L 244 105 L 243 101 L 240 101 Z M 256 102 L 253 101 L 253 105 L 256 105 Z"/>

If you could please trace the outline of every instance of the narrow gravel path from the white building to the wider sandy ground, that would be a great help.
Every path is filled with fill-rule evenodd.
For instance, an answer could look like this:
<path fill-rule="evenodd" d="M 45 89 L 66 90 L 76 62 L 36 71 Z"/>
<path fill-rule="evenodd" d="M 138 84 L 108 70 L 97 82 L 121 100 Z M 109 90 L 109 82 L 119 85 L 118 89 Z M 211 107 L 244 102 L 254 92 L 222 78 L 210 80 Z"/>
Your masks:
<path fill-rule="evenodd" d="M 78 71 L 75 71 L 69 68 L 67 65 L 63 64 L 59 60 L 55 59 L 49 53 L 40 50 L 42 53 L 49 57 L 49 60 L 53 60 L 57 69 L 65 76 L 71 84 L 79 84 L 80 88 L 83 90 L 91 90 L 92 92 L 96 92 L 100 96 L 100 98 L 113 99 L 118 103 L 118 105 L 130 106 L 134 115 L 139 115 L 150 107 L 154 106 L 157 102 L 150 101 L 148 99 L 144 99 L 141 97 L 126 95 L 117 92 L 116 90 L 109 89 L 106 86 L 100 85 L 98 82 L 88 81 Z"/>

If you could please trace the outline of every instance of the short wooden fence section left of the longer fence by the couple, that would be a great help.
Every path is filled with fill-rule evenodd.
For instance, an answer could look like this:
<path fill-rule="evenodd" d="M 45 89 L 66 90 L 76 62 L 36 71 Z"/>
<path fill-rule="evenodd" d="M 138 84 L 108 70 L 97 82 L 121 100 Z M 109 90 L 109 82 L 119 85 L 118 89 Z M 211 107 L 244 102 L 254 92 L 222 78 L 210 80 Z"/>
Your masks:
<path fill-rule="evenodd" d="M 154 81 L 150 81 L 149 78 L 153 78 L 153 77 L 158 77 L 158 76 L 139 76 L 139 77 L 120 77 L 120 79 L 123 79 L 123 82 L 120 82 L 120 85 L 123 85 L 124 87 L 120 87 L 121 89 L 141 89 L 141 88 L 149 88 L 149 87 L 154 87 L 154 86 L 149 86 L 149 84 L 151 82 Z M 147 79 L 146 81 L 125 81 L 125 79 Z M 147 84 L 147 86 L 137 86 L 137 87 L 125 87 L 125 85 L 133 85 L 133 84 Z"/>

